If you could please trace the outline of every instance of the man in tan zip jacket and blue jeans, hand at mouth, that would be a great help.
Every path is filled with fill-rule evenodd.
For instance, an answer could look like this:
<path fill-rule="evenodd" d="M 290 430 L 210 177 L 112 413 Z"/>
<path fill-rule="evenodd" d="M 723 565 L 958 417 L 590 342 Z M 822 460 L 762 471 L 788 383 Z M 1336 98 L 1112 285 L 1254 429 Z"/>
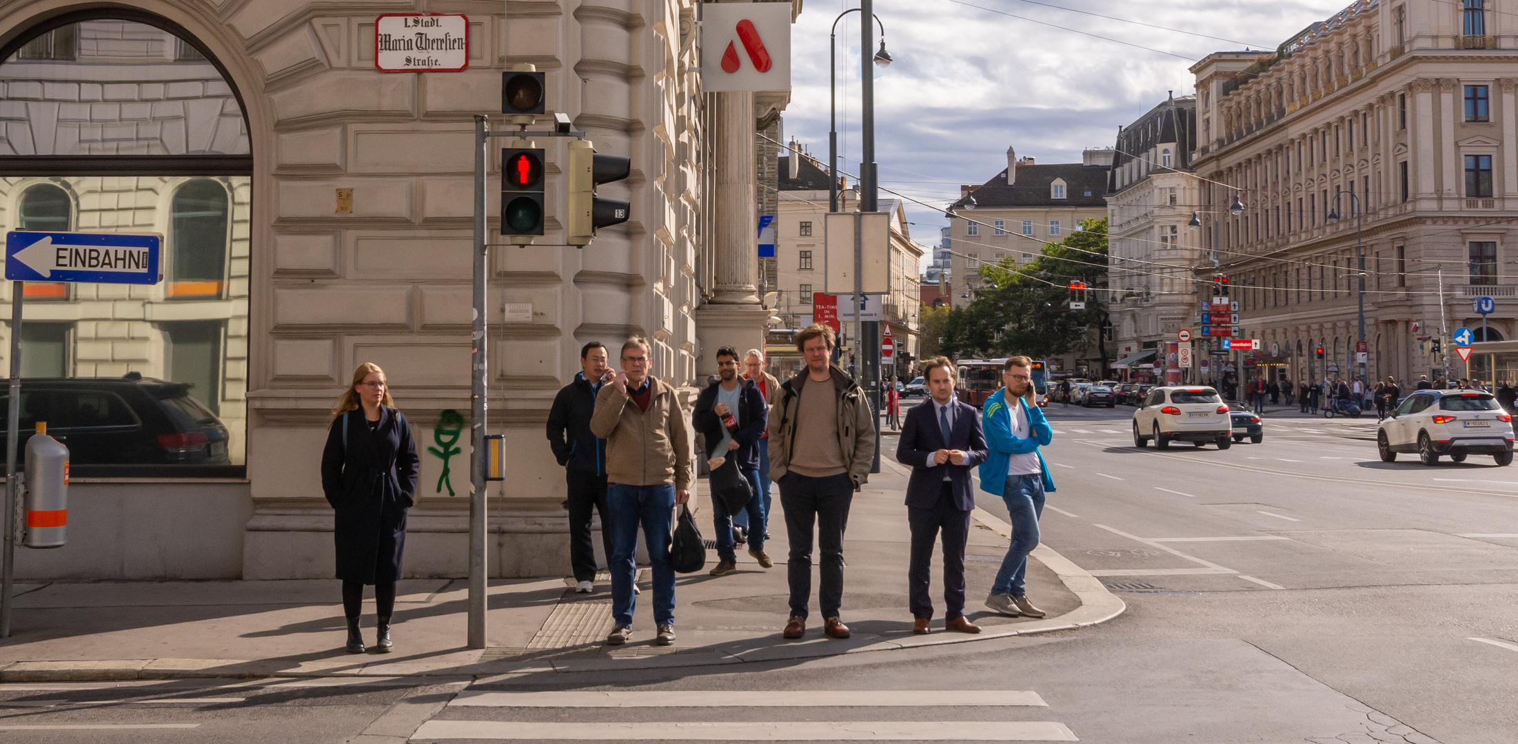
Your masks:
<path fill-rule="evenodd" d="M 674 566 L 669 527 L 676 504 L 691 500 L 691 434 L 674 387 L 650 375 L 648 340 L 622 342 L 622 369 L 595 393 L 591 431 L 606 440 L 606 507 L 612 515 L 612 632 L 606 645 L 633 636 L 638 530 L 654 583 L 654 644 L 674 644 Z"/>

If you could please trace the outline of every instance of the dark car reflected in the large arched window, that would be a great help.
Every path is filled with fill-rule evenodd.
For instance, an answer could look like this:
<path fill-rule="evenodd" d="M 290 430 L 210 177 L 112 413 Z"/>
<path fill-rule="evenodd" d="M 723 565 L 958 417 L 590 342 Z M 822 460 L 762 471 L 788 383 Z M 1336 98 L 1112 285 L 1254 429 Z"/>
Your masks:
<path fill-rule="evenodd" d="M 231 465 L 226 425 L 190 387 L 137 372 L 21 380 L 20 446 L 47 422 L 47 434 L 68 446 L 70 466 Z M 11 393 L 0 387 L 0 410 L 9 404 Z"/>

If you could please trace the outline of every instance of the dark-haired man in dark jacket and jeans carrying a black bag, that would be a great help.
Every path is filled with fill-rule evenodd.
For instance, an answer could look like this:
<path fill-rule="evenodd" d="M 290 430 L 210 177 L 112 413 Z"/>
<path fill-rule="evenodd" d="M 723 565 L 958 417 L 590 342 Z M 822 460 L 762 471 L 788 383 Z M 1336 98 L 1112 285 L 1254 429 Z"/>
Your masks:
<path fill-rule="evenodd" d="M 753 489 L 753 498 L 744 506 L 748 524 L 761 528 L 748 533 L 748 554 L 761 568 L 774 565 L 764 551 L 764 500 L 759 497 L 759 445 L 768 424 L 770 408 L 753 380 L 738 375 L 738 351 L 732 346 L 716 349 L 718 381 L 706 386 L 695 398 L 691 424 L 706 436 L 709 465 L 712 471 L 732 460 Z M 767 442 L 765 442 L 767 443 Z M 733 536 L 733 515 L 727 504 L 716 498 L 712 489 L 712 524 L 716 528 L 716 568 L 710 575 L 727 575 L 738 571 L 738 548 Z"/>

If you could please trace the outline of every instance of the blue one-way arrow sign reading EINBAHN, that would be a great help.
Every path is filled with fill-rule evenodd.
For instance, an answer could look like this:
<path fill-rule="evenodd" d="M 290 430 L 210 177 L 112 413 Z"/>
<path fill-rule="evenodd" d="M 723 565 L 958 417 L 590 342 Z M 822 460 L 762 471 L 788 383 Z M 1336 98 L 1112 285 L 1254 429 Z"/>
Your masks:
<path fill-rule="evenodd" d="M 6 232 L 5 278 L 158 284 L 159 235 L 114 232 Z"/>

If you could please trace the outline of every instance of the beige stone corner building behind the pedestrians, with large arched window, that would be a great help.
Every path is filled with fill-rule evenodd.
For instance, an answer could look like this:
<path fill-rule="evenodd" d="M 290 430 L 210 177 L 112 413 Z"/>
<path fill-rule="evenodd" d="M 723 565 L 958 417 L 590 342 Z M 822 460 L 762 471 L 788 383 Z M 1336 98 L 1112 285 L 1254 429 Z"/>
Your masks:
<path fill-rule="evenodd" d="M 383 73 L 373 59 L 383 11 L 370 6 L 0 2 L 6 229 L 67 222 L 161 232 L 170 246 L 156 287 L 80 284 L 29 298 L 24 328 L 68 328 L 56 339 L 23 331 L 24 349 L 61 345 L 61 377 L 179 381 L 190 366 L 176 361 L 175 323 L 214 323 L 214 343 L 178 346 L 214 354 L 199 369 L 214 381 L 191 390 L 217 390 L 216 413 L 237 442 L 231 469 L 196 477 L 76 471 L 74 539 L 23 551 L 18 575 L 331 575 L 319 452 L 328 411 L 361 361 L 387 370 L 424 451 L 408 575 L 465 574 L 469 437 L 449 428 L 448 411 L 469 411 L 474 128 L 477 114 L 499 109 L 499 76 L 513 64 L 545 71 L 543 121 L 568 114 L 600 152 L 631 158 L 631 176 L 600 190 L 631 202 L 631 219 L 584 249 L 563 246 L 563 140 L 539 138 L 546 235 L 507 246 L 495 228 L 498 158 L 487 158 L 489 431 L 516 454 L 512 477 L 490 486 L 492 575 L 566 571 L 563 471 L 543 424 L 583 343 L 615 349 L 647 336 L 653 374 L 688 393 L 707 346 L 762 343 L 753 146 L 786 96 L 703 93 L 689 0 L 501 9 L 430 3 L 428 12 L 469 17 L 468 70 Z M 120 64 L 123 55 L 137 64 Z M 498 114 L 492 126 L 505 128 Z M 176 194 L 211 185 L 225 194 L 220 273 L 176 279 L 176 235 L 205 243 L 214 232 L 190 229 Z M 30 214 L 36 187 L 64 191 L 67 213 Z M 736 226 L 712 219 L 720 197 L 741 199 Z M 461 452 L 427 451 L 452 440 Z"/>

